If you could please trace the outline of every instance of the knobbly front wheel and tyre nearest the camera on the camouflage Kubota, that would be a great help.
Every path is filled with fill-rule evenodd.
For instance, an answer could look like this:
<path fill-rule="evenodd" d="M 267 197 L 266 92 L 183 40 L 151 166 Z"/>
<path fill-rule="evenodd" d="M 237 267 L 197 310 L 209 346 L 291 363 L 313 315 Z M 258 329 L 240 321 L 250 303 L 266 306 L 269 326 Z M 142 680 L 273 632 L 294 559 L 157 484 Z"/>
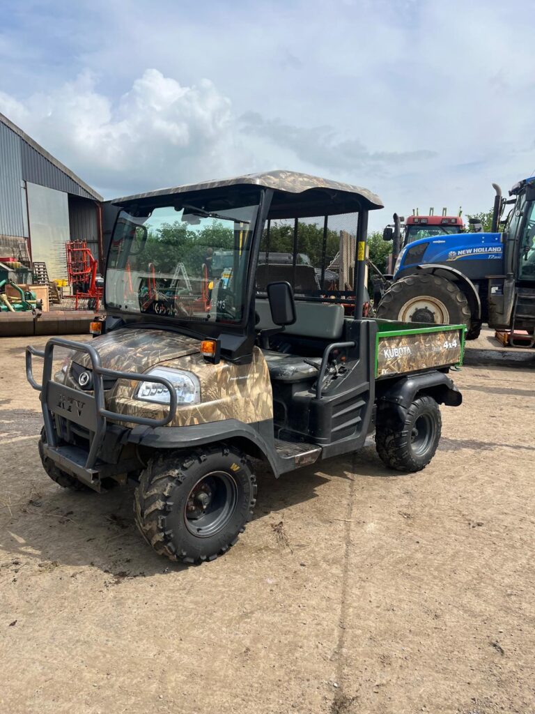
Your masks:
<path fill-rule="evenodd" d="M 136 524 L 159 555 L 184 563 L 214 560 L 253 517 L 256 491 L 248 459 L 225 444 L 160 453 L 136 488 Z"/>

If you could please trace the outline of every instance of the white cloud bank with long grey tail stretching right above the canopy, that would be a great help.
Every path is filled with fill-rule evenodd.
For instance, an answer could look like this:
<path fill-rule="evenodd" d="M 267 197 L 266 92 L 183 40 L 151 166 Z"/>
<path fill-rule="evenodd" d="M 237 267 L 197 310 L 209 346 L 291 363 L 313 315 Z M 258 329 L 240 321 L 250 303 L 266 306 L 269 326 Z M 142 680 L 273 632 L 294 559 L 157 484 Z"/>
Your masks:
<path fill-rule="evenodd" d="M 24 101 L 0 94 L 0 111 L 108 196 L 288 166 L 377 177 L 389 164 L 434 156 L 371 152 L 332 126 L 292 126 L 255 112 L 237 118 L 208 79 L 182 86 L 156 69 L 147 69 L 115 104 L 85 72 Z"/>

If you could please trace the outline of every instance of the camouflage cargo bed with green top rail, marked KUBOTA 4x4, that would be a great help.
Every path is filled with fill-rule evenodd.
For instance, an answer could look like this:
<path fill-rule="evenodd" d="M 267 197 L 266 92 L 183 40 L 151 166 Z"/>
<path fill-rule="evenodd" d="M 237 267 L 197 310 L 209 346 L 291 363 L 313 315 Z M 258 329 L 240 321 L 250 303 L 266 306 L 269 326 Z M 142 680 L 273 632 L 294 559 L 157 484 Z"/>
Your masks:
<path fill-rule="evenodd" d="M 375 376 L 389 377 L 462 364 L 464 325 L 414 325 L 377 320 Z"/>

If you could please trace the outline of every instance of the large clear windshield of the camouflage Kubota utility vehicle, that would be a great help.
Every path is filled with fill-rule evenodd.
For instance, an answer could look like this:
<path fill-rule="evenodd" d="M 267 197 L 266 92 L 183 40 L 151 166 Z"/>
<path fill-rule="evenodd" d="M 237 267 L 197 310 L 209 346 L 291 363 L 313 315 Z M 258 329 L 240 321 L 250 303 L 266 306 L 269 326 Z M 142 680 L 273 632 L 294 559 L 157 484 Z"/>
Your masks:
<path fill-rule="evenodd" d="M 119 214 L 108 254 L 106 306 L 188 321 L 241 322 L 260 191 L 174 200 Z"/>

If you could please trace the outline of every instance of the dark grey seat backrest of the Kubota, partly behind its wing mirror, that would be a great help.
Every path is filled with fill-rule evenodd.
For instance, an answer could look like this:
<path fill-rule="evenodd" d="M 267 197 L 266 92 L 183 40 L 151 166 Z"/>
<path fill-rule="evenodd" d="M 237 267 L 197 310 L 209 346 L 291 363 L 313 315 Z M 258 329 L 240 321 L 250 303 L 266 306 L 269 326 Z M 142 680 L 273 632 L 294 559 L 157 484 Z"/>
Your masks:
<path fill-rule="evenodd" d="M 260 317 L 257 330 L 272 330 L 277 327 L 271 319 L 270 303 L 265 298 L 256 298 L 255 310 Z M 295 323 L 285 327 L 287 335 L 330 341 L 342 337 L 344 308 L 341 305 L 296 301 L 295 313 L 297 315 Z"/>

